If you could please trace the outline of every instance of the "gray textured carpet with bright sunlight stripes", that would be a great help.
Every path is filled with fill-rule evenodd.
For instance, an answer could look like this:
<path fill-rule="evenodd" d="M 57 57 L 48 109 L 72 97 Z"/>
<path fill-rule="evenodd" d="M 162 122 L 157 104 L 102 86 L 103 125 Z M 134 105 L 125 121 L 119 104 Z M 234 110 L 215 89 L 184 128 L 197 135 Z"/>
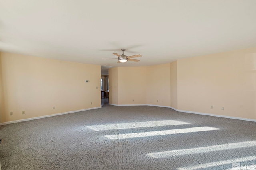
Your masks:
<path fill-rule="evenodd" d="M 2 170 L 223 170 L 256 165 L 256 123 L 153 106 L 2 125 Z"/>

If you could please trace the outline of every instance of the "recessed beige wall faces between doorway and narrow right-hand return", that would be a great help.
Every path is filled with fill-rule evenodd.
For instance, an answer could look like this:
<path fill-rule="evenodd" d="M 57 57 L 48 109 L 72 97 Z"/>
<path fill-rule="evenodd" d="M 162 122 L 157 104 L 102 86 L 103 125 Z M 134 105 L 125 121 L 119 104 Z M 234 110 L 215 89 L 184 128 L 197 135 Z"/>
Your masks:
<path fill-rule="evenodd" d="M 109 69 L 110 104 L 170 106 L 170 64 Z M 157 102 L 158 100 L 158 102 Z"/>

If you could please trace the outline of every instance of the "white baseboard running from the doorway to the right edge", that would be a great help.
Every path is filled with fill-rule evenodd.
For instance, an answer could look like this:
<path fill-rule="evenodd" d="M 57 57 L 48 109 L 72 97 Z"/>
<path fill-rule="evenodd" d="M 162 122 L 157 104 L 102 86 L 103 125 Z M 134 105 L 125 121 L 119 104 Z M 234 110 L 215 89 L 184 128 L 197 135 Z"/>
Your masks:
<path fill-rule="evenodd" d="M 195 111 L 178 110 L 178 109 L 175 109 L 174 107 L 162 106 L 162 105 L 153 105 L 153 104 L 135 104 L 135 105 L 129 105 L 129 104 L 123 104 L 123 105 L 110 104 L 110 105 L 114 105 L 114 106 L 156 106 L 156 107 L 166 107 L 166 108 L 174 109 L 175 111 L 183 112 L 183 113 L 193 113 L 193 114 L 198 114 L 198 115 L 223 117 L 223 118 L 229 118 L 229 119 L 237 119 L 237 120 L 245 120 L 245 121 L 254 121 L 254 122 L 256 122 L 256 119 L 248 119 L 248 118 L 234 117 L 234 116 L 225 116 L 225 115 L 215 115 L 215 114 L 200 113 L 200 112 L 195 112 Z"/>

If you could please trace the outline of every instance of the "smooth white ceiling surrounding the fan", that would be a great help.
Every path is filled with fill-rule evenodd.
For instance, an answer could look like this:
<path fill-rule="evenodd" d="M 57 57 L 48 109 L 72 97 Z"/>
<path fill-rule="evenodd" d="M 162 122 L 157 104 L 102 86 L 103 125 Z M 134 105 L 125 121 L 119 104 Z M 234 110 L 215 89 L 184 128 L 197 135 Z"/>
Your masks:
<path fill-rule="evenodd" d="M 0 51 L 149 66 L 256 46 L 256 0 L 0 0 Z M 112 53 L 141 54 L 117 63 Z"/>

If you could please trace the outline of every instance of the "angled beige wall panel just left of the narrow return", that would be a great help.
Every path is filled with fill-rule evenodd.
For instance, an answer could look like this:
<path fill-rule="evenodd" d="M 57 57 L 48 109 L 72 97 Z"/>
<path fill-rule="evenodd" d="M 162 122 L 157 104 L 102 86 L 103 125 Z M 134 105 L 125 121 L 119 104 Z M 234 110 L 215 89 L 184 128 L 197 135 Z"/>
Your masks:
<path fill-rule="evenodd" d="M 170 107 L 170 63 L 147 67 L 147 104 Z"/>

